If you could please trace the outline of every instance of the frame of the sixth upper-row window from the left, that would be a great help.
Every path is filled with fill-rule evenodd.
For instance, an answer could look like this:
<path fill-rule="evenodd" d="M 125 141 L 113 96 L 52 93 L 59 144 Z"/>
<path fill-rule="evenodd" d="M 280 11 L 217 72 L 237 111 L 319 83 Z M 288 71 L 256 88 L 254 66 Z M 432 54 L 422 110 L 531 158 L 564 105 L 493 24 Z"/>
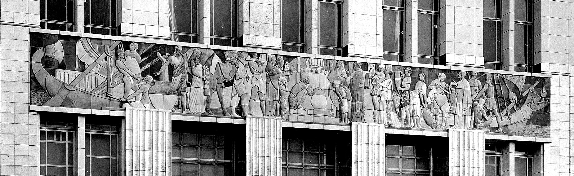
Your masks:
<path fill-rule="evenodd" d="M 320 45 L 321 44 L 321 23 L 320 21 L 320 13 L 321 13 L 321 6 L 320 3 L 332 3 L 335 4 L 335 9 L 338 13 L 338 16 L 336 16 L 336 21 L 337 23 L 336 28 L 337 28 L 337 37 L 336 37 L 336 41 L 335 41 L 335 45 L 337 46 L 327 46 L 327 45 Z M 321 53 L 321 49 L 334 49 L 335 50 L 335 55 L 333 56 L 343 56 L 343 1 L 338 1 L 338 0 L 319 0 L 317 1 L 317 53 L 318 54 L 323 54 Z M 331 55 L 331 54 L 327 54 L 327 55 Z"/>

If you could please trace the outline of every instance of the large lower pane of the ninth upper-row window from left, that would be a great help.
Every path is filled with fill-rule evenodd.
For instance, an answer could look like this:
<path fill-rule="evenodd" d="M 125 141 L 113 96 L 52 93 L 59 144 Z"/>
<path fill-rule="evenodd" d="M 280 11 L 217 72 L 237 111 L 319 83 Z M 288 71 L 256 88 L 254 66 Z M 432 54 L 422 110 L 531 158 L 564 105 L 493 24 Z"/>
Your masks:
<path fill-rule="evenodd" d="M 502 61 L 502 22 L 484 21 L 483 24 L 484 61 Z"/>

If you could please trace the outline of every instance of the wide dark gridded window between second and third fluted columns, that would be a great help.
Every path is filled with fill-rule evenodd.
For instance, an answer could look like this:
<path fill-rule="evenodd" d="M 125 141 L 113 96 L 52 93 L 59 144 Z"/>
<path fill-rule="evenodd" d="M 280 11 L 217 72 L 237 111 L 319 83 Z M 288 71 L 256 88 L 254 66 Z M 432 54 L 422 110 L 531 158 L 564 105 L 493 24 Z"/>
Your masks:
<path fill-rule="evenodd" d="M 351 175 L 350 141 L 340 139 L 301 138 L 305 132 L 324 133 L 319 130 L 285 130 L 283 138 L 283 175 L 319 176 Z M 331 132 L 332 133 L 332 132 Z M 298 134 L 298 135 L 294 135 Z M 338 136 L 326 134 L 320 136 Z M 342 138 L 342 139 L 351 139 Z"/>

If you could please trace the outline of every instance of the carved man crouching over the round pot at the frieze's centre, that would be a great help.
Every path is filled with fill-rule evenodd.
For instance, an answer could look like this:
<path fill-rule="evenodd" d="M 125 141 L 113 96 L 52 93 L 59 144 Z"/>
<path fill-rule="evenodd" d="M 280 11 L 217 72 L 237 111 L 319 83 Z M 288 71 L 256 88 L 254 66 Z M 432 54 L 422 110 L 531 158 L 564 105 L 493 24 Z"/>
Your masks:
<path fill-rule="evenodd" d="M 293 109 L 303 109 L 301 104 L 307 96 L 313 96 L 317 91 L 323 91 L 321 87 L 311 85 L 311 79 L 307 73 L 301 73 L 300 82 L 293 85 L 289 94 L 289 107 Z"/>

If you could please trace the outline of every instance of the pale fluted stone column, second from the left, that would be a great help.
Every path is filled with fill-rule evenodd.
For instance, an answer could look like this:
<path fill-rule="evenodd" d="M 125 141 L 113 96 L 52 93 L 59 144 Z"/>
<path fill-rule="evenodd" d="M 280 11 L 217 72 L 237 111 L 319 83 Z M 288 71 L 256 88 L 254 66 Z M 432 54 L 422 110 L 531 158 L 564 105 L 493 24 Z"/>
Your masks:
<path fill-rule="evenodd" d="M 246 118 L 247 176 L 281 174 L 281 118 Z"/>

